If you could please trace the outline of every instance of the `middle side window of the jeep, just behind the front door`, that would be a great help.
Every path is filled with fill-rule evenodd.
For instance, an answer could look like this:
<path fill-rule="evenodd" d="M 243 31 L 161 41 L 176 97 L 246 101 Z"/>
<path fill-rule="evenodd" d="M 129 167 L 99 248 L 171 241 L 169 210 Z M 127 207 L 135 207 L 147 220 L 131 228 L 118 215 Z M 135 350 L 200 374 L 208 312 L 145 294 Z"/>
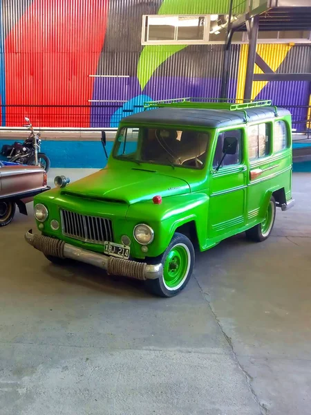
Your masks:
<path fill-rule="evenodd" d="M 270 154 L 271 128 L 268 123 L 251 125 L 247 130 L 248 157 L 255 160 Z"/>

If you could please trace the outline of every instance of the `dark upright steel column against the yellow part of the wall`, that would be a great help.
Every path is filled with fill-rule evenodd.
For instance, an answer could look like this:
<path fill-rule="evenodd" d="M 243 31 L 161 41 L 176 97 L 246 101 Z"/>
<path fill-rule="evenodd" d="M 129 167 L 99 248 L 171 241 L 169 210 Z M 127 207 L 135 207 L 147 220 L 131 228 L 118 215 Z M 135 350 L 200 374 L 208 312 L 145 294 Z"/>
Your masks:
<path fill-rule="evenodd" d="M 253 86 L 253 80 L 254 80 L 258 26 L 259 26 L 258 15 L 252 17 L 252 19 L 246 22 L 249 46 L 248 46 L 248 54 L 247 54 L 244 100 L 250 100 L 252 98 L 252 86 Z"/>

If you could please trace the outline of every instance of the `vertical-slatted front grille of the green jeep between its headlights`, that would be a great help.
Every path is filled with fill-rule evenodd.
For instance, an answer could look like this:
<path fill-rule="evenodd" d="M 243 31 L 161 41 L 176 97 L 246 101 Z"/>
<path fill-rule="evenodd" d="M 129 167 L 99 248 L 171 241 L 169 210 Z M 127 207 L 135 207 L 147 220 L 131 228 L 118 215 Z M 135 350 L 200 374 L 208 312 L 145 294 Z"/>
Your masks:
<path fill-rule="evenodd" d="M 66 237 L 93 243 L 113 242 L 113 229 L 110 219 L 86 216 L 69 210 L 61 210 L 61 215 L 62 232 Z"/>

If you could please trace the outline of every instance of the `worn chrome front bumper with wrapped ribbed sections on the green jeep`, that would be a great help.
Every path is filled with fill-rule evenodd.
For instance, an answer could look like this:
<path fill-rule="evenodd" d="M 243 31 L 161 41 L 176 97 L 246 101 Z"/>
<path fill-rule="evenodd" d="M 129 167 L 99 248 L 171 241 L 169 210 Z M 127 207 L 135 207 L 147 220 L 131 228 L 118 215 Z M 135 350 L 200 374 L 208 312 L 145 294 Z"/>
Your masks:
<path fill-rule="evenodd" d="M 162 264 L 149 265 L 145 262 L 129 261 L 128 259 L 91 252 L 59 239 L 33 234 L 31 229 L 26 232 L 25 239 L 31 246 L 45 255 L 85 262 L 102 268 L 112 275 L 145 280 L 158 279 L 163 274 Z"/>

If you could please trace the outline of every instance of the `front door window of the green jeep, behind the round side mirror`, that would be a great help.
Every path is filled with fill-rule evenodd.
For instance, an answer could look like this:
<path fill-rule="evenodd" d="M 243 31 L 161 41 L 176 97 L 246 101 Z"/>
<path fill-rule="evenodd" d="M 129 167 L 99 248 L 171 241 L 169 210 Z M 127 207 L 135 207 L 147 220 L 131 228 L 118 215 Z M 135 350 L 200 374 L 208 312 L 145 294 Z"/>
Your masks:
<path fill-rule="evenodd" d="M 235 154 L 227 154 L 225 157 L 223 154 L 223 143 L 226 137 L 234 137 L 238 140 L 238 145 L 236 147 Z M 223 161 L 221 162 L 221 160 Z M 230 165 L 239 165 L 242 161 L 242 130 L 236 129 L 231 131 L 225 131 L 220 133 L 217 138 L 216 151 L 213 160 L 213 167 L 216 168 L 219 163 L 220 167 L 230 166 Z"/>

